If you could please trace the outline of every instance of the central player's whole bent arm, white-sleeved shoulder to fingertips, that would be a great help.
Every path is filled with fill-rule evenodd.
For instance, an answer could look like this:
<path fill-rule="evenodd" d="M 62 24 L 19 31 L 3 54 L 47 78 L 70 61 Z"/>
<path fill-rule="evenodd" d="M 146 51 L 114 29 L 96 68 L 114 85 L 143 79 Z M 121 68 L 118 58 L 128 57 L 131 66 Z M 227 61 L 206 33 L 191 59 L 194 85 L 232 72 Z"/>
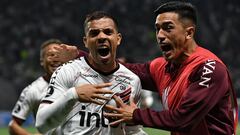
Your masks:
<path fill-rule="evenodd" d="M 48 88 L 49 92 L 40 104 L 36 116 L 36 127 L 39 132 L 46 133 L 60 125 L 78 101 L 79 103 L 101 104 L 96 99 L 109 100 L 102 94 L 110 94 L 112 91 L 102 88 L 111 84 L 82 84 L 74 87 L 75 73 L 73 72 L 65 65 L 52 75 Z"/>

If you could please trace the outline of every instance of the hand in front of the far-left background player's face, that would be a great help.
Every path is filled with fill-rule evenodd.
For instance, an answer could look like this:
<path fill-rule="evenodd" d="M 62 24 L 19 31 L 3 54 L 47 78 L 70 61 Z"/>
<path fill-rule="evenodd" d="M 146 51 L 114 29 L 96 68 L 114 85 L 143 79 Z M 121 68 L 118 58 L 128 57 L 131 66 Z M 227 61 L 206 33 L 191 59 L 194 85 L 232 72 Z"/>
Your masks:
<path fill-rule="evenodd" d="M 69 60 L 73 60 L 78 56 L 78 49 L 76 46 L 61 44 L 59 46 L 55 46 L 54 49 L 54 57 L 52 58 L 55 61 L 59 62 L 68 62 Z"/>

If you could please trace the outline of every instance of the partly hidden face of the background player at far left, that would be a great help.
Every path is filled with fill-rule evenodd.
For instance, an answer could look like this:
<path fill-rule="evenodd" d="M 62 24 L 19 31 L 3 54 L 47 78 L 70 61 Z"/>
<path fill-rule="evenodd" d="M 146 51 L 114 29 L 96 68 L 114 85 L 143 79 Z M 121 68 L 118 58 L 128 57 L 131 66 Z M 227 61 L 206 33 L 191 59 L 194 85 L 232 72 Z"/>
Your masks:
<path fill-rule="evenodd" d="M 52 75 L 52 73 L 59 67 L 62 62 L 53 60 L 53 56 L 55 55 L 56 49 L 54 47 L 59 46 L 58 44 L 50 44 L 44 48 L 43 58 L 41 61 L 41 65 L 43 66 L 45 72 L 48 75 Z"/>

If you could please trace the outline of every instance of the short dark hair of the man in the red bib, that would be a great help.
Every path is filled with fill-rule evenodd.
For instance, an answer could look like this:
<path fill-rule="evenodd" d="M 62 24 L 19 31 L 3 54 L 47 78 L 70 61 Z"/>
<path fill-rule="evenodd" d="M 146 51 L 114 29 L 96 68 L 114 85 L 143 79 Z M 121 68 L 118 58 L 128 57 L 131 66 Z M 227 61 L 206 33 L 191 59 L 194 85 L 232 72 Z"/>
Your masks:
<path fill-rule="evenodd" d="M 175 12 L 179 15 L 179 19 L 190 19 L 195 25 L 197 24 L 196 8 L 189 2 L 170 1 L 160 5 L 155 11 L 155 15 L 165 12 Z"/>

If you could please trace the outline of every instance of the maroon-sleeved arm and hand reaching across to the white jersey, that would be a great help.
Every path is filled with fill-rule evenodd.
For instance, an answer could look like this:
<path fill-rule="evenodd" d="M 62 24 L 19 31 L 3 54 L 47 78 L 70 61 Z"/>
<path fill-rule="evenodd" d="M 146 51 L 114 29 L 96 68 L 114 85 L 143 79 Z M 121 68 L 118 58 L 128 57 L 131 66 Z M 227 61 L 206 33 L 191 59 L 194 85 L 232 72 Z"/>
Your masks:
<path fill-rule="evenodd" d="M 144 125 L 146 127 L 159 128 L 169 131 L 190 131 L 192 130 L 200 121 L 206 117 L 206 114 L 214 108 L 214 106 L 219 102 L 219 100 L 229 100 L 229 89 L 228 74 L 225 67 L 217 63 L 214 72 L 209 75 L 211 82 L 208 87 L 202 86 L 203 78 L 200 76 L 204 72 L 204 65 L 193 72 L 193 76 L 189 79 L 191 84 L 186 89 L 183 95 L 182 101 L 178 108 L 175 110 L 163 110 L 155 111 L 150 108 L 139 109 L 133 103 L 126 105 L 119 100 L 116 100 L 119 108 L 107 107 L 107 109 L 115 111 L 114 113 L 106 113 L 107 117 L 114 117 L 116 121 L 112 122 L 111 125 L 116 125 L 121 122 L 127 123 L 137 123 Z M 193 111 L 194 110 L 194 111 Z M 229 112 L 222 112 L 229 113 Z M 215 116 L 214 119 L 221 122 Z M 224 125 L 230 129 L 231 124 L 224 123 Z"/>

